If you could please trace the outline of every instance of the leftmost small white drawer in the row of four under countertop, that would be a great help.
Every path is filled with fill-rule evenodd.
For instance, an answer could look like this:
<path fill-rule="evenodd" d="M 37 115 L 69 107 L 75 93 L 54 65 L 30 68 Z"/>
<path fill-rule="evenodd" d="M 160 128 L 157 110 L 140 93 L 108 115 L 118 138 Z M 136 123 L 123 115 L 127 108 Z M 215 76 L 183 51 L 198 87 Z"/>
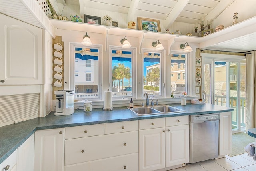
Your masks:
<path fill-rule="evenodd" d="M 65 139 L 90 137 L 90 136 L 94 136 L 94 135 L 104 135 L 104 133 L 105 133 L 104 123 L 96 124 L 96 125 L 66 127 L 65 128 Z"/>

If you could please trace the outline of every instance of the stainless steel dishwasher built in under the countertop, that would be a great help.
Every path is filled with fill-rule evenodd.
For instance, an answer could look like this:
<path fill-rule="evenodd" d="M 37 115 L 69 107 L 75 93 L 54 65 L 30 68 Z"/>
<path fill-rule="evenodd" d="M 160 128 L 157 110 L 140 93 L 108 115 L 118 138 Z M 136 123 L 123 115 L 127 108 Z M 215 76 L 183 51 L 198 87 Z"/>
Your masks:
<path fill-rule="evenodd" d="M 189 116 L 189 163 L 218 157 L 220 113 Z"/>

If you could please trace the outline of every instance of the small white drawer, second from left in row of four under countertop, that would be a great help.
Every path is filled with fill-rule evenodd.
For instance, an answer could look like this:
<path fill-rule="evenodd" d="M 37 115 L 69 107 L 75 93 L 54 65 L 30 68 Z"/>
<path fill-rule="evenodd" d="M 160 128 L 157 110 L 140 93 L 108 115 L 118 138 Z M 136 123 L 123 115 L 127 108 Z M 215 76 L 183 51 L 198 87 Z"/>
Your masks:
<path fill-rule="evenodd" d="M 138 121 L 106 123 L 106 134 L 138 131 Z"/>

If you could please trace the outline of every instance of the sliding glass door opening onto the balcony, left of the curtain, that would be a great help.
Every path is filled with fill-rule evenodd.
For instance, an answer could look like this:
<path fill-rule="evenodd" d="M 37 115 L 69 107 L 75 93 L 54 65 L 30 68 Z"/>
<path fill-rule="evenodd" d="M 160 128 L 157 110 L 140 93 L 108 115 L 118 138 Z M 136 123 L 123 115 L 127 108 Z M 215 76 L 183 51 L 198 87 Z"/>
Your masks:
<path fill-rule="evenodd" d="M 234 108 L 232 130 L 245 130 L 245 61 L 204 58 L 206 103 Z"/>

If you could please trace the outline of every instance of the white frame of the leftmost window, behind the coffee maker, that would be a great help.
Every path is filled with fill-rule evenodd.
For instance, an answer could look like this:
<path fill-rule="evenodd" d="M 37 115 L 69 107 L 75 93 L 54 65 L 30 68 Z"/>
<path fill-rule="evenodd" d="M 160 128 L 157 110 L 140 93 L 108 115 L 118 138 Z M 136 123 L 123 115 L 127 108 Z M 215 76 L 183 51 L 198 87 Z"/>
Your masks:
<path fill-rule="evenodd" d="M 75 47 L 77 48 L 94 48 L 98 49 L 98 97 L 97 98 L 74 98 L 79 101 L 88 99 L 90 101 L 98 101 L 102 99 L 102 45 L 101 44 L 92 44 L 91 46 L 84 46 L 81 43 L 70 42 L 70 89 L 75 89 Z"/>

